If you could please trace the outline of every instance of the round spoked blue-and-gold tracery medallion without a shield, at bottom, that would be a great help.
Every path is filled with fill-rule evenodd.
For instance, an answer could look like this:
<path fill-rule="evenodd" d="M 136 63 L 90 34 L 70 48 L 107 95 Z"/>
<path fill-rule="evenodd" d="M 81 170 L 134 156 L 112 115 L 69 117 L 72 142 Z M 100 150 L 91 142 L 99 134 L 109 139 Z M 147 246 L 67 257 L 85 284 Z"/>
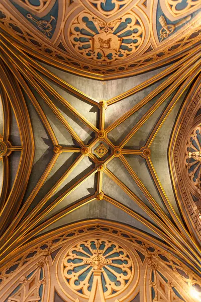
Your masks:
<path fill-rule="evenodd" d="M 94 279 L 100 278 L 105 297 L 125 290 L 134 275 L 129 253 L 117 243 L 94 239 L 69 249 L 64 261 L 65 281 L 73 291 L 89 297 Z"/>

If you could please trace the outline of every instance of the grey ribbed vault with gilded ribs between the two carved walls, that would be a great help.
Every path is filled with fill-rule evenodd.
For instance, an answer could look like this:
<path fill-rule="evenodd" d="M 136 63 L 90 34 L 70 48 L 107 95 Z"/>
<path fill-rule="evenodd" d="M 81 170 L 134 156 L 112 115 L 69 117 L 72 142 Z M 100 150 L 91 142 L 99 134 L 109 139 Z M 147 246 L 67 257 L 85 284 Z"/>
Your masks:
<path fill-rule="evenodd" d="M 73 223 L 103 219 L 161 245 L 200 288 L 200 190 L 186 199 L 190 180 L 182 174 L 187 134 L 200 126 L 200 46 L 103 82 L 33 58 L 13 41 L 1 32 L 0 281 L 26 249 Z"/>

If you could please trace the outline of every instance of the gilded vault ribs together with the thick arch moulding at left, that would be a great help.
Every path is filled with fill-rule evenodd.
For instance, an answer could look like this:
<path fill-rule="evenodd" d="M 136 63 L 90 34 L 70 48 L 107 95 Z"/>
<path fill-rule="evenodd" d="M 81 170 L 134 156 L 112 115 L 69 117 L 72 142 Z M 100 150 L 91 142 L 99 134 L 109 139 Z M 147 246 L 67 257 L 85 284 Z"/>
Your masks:
<path fill-rule="evenodd" d="M 48 226 L 52 225 L 54 222 L 58 221 L 61 217 L 67 216 L 72 211 L 80 208 L 81 206 L 93 202 L 94 200 L 99 200 L 102 202 L 104 199 L 107 202 L 110 202 L 120 210 L 126 212 L 131 217 L 137 219 L 157 234 L 165 243 L 166 248 L 177 253 L 177 255 L 183 259 L 186 263 L 191 265 L 195 271 L 198 271 L 197 267 L 199 265 L 199 253 L 200 249 L 196 243 L 193 232 L 191 234 L 188 232 L 186 225 L 178 217 L 177 213 L 173 209 L 170 200 L 168 199 L 165 191 L 159 181 L 157 173 L 154 169 L 153 163 L 151 162 L 150 156 L 144 156 L 143 150 L 150 148 L 156 134 L 160 130 L 162 124 L 164 123 L 167 116 L 170 114 L 171 110 L 185 92 L 187 88 L 193 83 L 197 75 L 200 73 L 200 61 L 201 53 L 200 46 L 194 46 L 190 51 L 187 51 L 179 61 L 173 63 L 171 66 L 167 67 L 164 71 L 158 73 L 151 79 L 144 81 L 140 85 L 106 101 L 104 106 L 102 103 L 98 103 L 95 99 L 90 98 L 86 94 L 77 90 L 72 85 L 69 85 L 52 72 L 47 70 L 45 67 L 40 65 L 40 63 L 34 61 L 29 55 L 34 55 L 37 58 L 43 58 L 42 56 L 36 56 L 36 53 L 31 50 L 29 55 L 25 53 L 27 50 L 26 46 L 22 46 L 19 43 L 14 43 L 13 39 L 8 38 L 7 35 L 3 33 L 0 34 L 2 40 L 0 41 L 0 84 L 1 84 L 1 94 L 3 99 L 3 109 L 4 109 L 4 133 L 1 136 L 6 141 L 9 141 L 10 137 L 10 128 L 11 128 L 11 113 L 10 106 L 12 106 L 15 113 L 17 123 L 19 126 L 20 136 L 21 136 L 21 146 L 11 146 L 10 150 L 12 152 L 21 151 L 21 159 L 19 164 L 19 169 L 17 171 L 16 179 L 14 181 L 13 188 L 9 192 L 9 157 L 3 158 L 3 167 L 4 167 L 4 184 L 3 184 L 3 193 L 1 196 L 0 210 L 2 215 L 2 221 L 0 226 L 2 226 L 2 233 L 5 231 L 6 226 L 8 226 L 4 235 L 0 238 L 0 251 L 2 259 L 0 261 L 0 266 L 5 265 L 13 255 L 18 255 L 19 252 L 23 249 L 23 246 L 29 246 L 28 241 L 31 241 L 32 244 L 35 242 L 35 236 L 40 235 L 42 231 L 45 231 Z M 44 59 L 44 62 L 49 61 Z M 53 64 L 51 62 L 51 64 Z M 56 67 L 61 64 L 55 64 Z M 62 66 L 63 69 L 65 69 Z M 40 73 L 40 74 L 39 74 Z M 99 124 L 94 126 L 90 123 L 84 116 L 82 116 L 67 100 L 65 100 L 59 93 L 57 93 L 50 84 L 48 84 L 45 79 L 42 77 L 47 77 L 49 80 L 59 85 L 69 93 L 73 94 L 75 97 L 84 100 L 94 106 L 98 107 L 98 118 Z M 135 93 L 145 89 L 146 87 L 156 83 L 164 77 L 168 78 L 160 84 L 156 89 L 149 93 L 144 99 L 142 99 L 138 104 L 136 104 L 131 110 L 123 114 L 119 119 L 114 123 L 109 125 L 105 129 L 105 114 L 107 106 L 113 105 L 119 101 L 124 100 L 125 98 L 135 95 Z M 103 77 L 94 76 L 94 79 L 101 79 Z M 54 115 L 58 120 L 64 125 L 66 131 L 68 131 L 71 136 L 79 144 L 79 147 L 65 147 L 60 146 L 58 139 L 51 127 L 48 118 L 43 111 L 41 105 L 39 104 L 37 98 L 32 92 L 33 89 L 40 95 L 40 97 L 45 101 L 48 107 L 52 110 Z M 107 137 L 107 133 L 118 127 L 122 122 L 127 120 L 133 113 L 137 112 L 145 104 L 157 96 L 163 90 L 163 94 L 158 98 L 154 105 L 144 114 L 144 116 L 138 121 L 138 123 L 132 128 L 132 130 L 126 135 L 122 142 L 116 146 L 110 139 Z M 157 123 L 155 124 L 153 130 L 151 131 L 148 140 L 141 149 L 123 149 L 126 143 L 131 139 L 131 137 L 136 133 L 138 129 L 148 120 L 148 118 L 155 112 L 155 110 L 166 100 L 176 90 L 175 95 L 170 100 L 169 104 L 165 108 L 164 112 L 160 115 Z M 56 107 L 54 102 L 51 100 L 51 97 L 48 97 L 46 94 L 48 91 L 51 96 L 56 98 L 56 100 L 65 106 L 75 117 L 77 117 L 82 123 L 84 123 L 91 131 L 95 133 L 95 138 L 88 144 L 85 145 L 73 128 L 69 125 L 67 120 L 61 114 L 59 109 Z M 58 153 L 55 153 L 47 165 L 45 171 L 31 192 L 30 196 L 22 205 L 22 200 L 26 191 L 28 181 L 30 179 L 30 174 L 32 171 L 35 145 L 34 145 L 34 136 L 32 130 L 31 119 L 29 112 L 26 106 L 26 102 L 23 96 L 23 93 L 26 93 L 29 100 L 32 102 L 38 116 L 40 117 L 45 129 L 48 132 L 49 137 L 52 141 L 52 148 L 58 147 Z M 125 100 L 126 102 L 126 100 Z M 99 141 L 98 131 L 105 131 L 106 136 L 102 139 L 107 143 L 111 149 L 112 154 L 105 159 L 104 161 L 99 161 L 91 152 L 91 148 Z M 83 153 L 83 147 L 87 147 L 89 150 L 88 154 Z M 115 154 L 116 149 L 120 149 L 120 155 Z M 57 152 L 55 151 L 55 152 Z M 42 189 L 45 181 L 47 180 L 50 172 L 55 166 L 57 160 L 61 153 L 77 153 L 77 158 L 73 164 L 64 172 L 64 174 L 56 181 L 52 188 L 46 193 L 46 195 L 40 200 L 40 202 L 30 210 L 30 213 L 26 215 L 28 208 L 32 205 L 36 195 Z M 156 200 L 152 197 L 149 191 L 146 189 L 145 185 L 136 175 L 135 171 L 131 168 L 124 155 L 140 155 L 145 158 L 145 161 L 148 166 L 148 170 L 151 174 L 152 180 L 159 192 L 160 197 L 162 198 L 167 212 L 164 212 L 163 209 L 158 205 Z M 85 156 L 88 156 L 89 159 L 93 162 L 93 168 L 86 175 L 77 180 L 73 185 L 60 194 L 57 198 L 53 198 L 55 192 L 60 188 L 62 183 L 68 178 L 68 176 L 74 171 L 77 165 L 83 160 Z M 140 188 L 146 199 L 149 201 L 151 206 L 155 209 L 153 211 L 151 207 L 149 208 L 141 199 L 139 199 L 123 182 L 121 182 L 107 167 L 105 167 L 110 161 L 112 161 L 116 156 L 119 157 L 123 163 L 126 171 L 132 177 L 133 181 Z M 98 167 L 100 164 L 104 165 L 104 169 Z M 47 218 L 47 215 L 60 203 L 64 198 L 76 190 L 81 184 L 83 184 L 87 179 L 92 175 L 97 173 L 97 182 L 96 182 L 96 192 L 94 195 L 85 197 L 78 202 L 74 202 L 65 206 L 62 210 L 59 210 L 57 213 L 52 214 Z M 142 215 L 138 214 L 134 210 L 122 204 L 120 201 L 117 201 L 111 198 L 108 195 L 105 195 L 103 190 L 103 176 L 106 174 L 109 176 L 136 204 L 138 204 L 141 209 L 143 209 L 150 219 L 153 222 L 145 219 Z M 100 196 L 101 195 L 101 196 Z M 178 197 L 178 196 L 177 196 Z M 52 198 L 52 202 L 49 204 L 48 200 Z M 178 199 L 178 198 L 177 198 Z M 47 206 L 48 204 L 48 206 Z M 44 208 L 46 206 L 46 208 Z M 21 207 L 21 208 L 20 208 Z M 182 213 L 182 217 L 185 219 L 185 214 Z M 7 225 L 7 221 L 11 221 L 10 225 Z M 67 221 L 67 220 L 66 220 Z M 96 221 L 95 219 L 93 221 Z M 77 222 L 76 225 L 79 225 L 80 222 Z M 65 229 L 62 227 L 61 229 Z M 50 234 L 56 234 L 56 230 L 50 232 Z M 42 234 L 41 240 L 48 238 L 48 234 Z M 146 234 L 144 235 L 147 236 Z M 154 240 L 154 239 L 153 239 Z M 17 256 L 16 256 L 17 257 Z"/>

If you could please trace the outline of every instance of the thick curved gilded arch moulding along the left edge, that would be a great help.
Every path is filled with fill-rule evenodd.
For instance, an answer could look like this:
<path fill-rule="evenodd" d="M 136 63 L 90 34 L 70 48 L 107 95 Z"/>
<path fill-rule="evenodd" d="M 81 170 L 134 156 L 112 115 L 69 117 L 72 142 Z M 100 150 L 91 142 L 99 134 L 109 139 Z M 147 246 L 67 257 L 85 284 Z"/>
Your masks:
<path fill-rule="evenodd" d="M 1 61 L 0 71 L 1 71 L 2 85 L 4 86 L 4 89 L 8 93 L 9 100 L 12 104 L 17 122 L 19 124 L 21 142 L 23 147 L 21 153 L 20 165 L 18 168 L 18 172 L 14 181 L 12 191 L 1 212 L 2 218 L 0 222 L 0 229 L 3 232 L 3 230 L 5 230 L 7 224 L 6 221 L 8 221 L 7 220 L 8 217 L 9 216 L 12 217 L 12 215 L 16 213 L 18 208 L 20 207 L 20 201 L 21 198 L 24 196 L 28 184 L 29 176 L 32 170 L 35 146 L 34 146 L 33 130 L 32 130 L 30 116 L 23 95 L 21 94 L 21 90 L 18 89 L 19 88 L 18 83 L 15 82 L 15 79 L 13 79 L 13 81 L 11 80 L 10 74 L 8 73 L 7 68 L 5 67 L 2 61 Z"/>

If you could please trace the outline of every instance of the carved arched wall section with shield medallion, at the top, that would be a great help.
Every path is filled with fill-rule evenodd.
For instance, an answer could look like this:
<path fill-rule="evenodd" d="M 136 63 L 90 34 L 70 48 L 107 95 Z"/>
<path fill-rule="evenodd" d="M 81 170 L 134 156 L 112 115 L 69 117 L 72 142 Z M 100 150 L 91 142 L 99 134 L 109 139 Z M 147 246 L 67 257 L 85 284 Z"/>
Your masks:
<path fill-rule="evenodd" d="M 2 0 L 19 47 L 73 73 L 119 78 L 167 64 L 199 41 L 199 0 Z"/>

